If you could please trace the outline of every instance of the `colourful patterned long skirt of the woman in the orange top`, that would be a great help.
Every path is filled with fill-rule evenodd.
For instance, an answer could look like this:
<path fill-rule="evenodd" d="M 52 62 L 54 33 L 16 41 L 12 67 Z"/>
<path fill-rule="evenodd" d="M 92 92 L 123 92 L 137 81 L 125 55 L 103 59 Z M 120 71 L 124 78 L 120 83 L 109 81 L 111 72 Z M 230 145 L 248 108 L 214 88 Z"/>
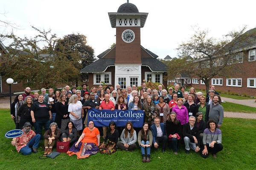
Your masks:
<path fill-rule="evenodd" d="M 98 146 L 95 143 L 83 143 L 79 142 L 78 146 L 75 147 L 76 142 L 67 151 L 69 156 L 77 155 L 77 159 L 87 158 L 90 155 L 94 155 L 98 152 Z"/>

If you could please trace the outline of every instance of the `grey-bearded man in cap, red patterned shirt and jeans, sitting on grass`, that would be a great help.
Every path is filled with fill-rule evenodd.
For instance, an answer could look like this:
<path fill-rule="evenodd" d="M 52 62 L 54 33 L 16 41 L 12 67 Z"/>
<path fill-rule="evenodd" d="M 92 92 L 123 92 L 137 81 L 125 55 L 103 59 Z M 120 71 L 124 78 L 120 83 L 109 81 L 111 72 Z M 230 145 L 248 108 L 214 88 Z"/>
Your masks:
<path fill-rule="evenodd" d="M 26 122 L 23 126 L 24 133 L 13 138 L 11 144 L 16 147 L 16 150 L 23 155 L 30 155 L 31 153 L 37 153 L 37 148 L 40 142 L 40 135 L 35 134 L 30 122 Z"/>

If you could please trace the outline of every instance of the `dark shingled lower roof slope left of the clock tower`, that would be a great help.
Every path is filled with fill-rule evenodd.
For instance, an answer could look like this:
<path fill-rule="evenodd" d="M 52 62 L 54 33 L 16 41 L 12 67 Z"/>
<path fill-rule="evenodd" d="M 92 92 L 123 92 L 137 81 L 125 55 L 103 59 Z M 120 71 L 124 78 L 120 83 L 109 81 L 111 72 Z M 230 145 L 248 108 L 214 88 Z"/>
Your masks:
<path fill-rule="evenodd" d="M 115 58 L 100 58 L 81 69 L 80 72 L 104 72 L 108 66 L 113 66 L 114 64 Z"/>

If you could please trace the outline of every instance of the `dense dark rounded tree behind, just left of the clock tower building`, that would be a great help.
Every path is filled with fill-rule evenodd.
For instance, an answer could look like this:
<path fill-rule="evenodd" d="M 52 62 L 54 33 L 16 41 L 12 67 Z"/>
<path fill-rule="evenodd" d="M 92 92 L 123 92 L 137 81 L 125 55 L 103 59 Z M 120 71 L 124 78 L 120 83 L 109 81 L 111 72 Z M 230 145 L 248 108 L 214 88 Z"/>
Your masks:
<path fill-rule="evenodd" d="M 94 49 L 87 45 L 87 37 L 81 34 L 69 34 L 59 39 L 56 45 L 56 52 L 61 52 L 66 55 L 67 59 L 77 68 L 82 69 L 93 63 L 96 58 Z M 70 78 L 70 81 L 75 81 L 78 86 L 78 81 L 88 80 L 88 74 L 79 73 L 78 77 Z"/>

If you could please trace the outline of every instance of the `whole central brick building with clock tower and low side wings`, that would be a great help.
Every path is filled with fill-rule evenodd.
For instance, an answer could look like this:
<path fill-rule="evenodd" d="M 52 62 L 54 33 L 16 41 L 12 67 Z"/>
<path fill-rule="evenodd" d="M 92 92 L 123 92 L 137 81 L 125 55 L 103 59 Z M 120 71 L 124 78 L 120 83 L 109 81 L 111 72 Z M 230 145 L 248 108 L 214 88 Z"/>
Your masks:
<path fill-rule="evenodd" d="M 129 85 L 140 86 L 144 79 L 167 86 L 163 78 L 167 66 L 140 44 L 140 28 L 144 27 L 148 13 L 139 12 L 132 3 L 124 3 L 117 12 L 108 15 L 112 28 L 116 28 L 116 45 L 80 70 L 88 73 L 88 86 L 98 86 L 104 81 L 109 86 L 120 84 L 124 89 Z"/>

